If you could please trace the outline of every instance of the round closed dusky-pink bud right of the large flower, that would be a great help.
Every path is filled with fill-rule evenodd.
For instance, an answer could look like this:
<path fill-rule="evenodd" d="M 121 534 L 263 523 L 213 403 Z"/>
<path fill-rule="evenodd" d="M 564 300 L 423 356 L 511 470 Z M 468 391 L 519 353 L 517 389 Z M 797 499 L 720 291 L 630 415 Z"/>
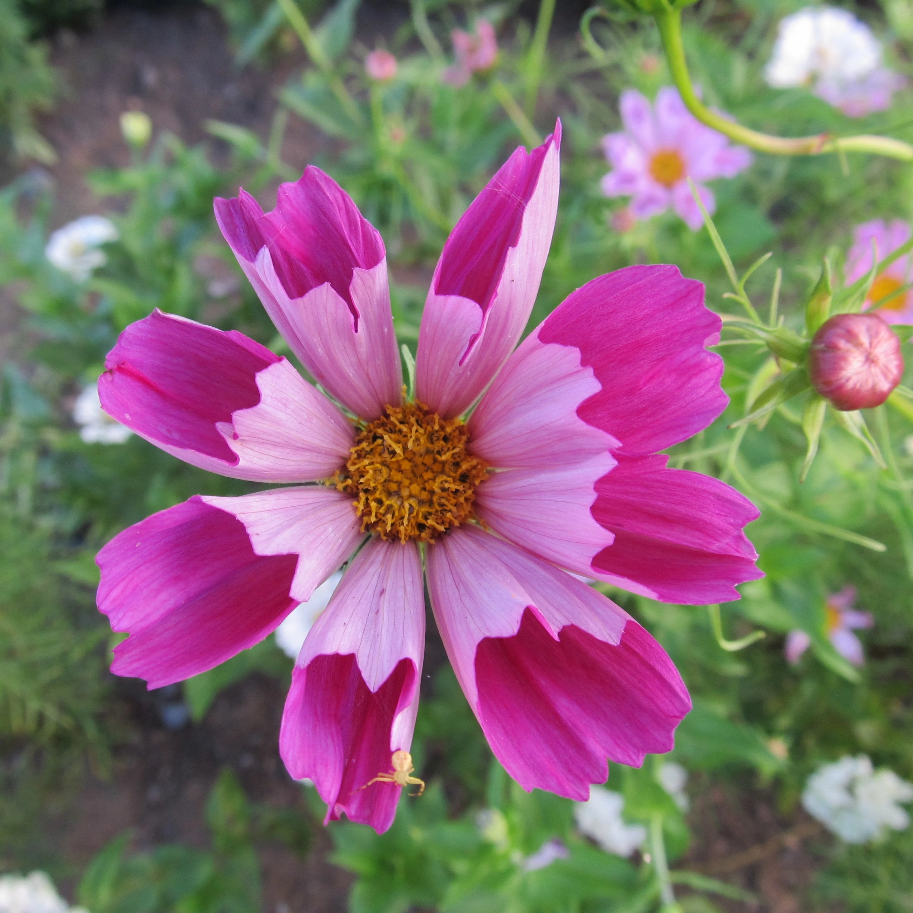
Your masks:
<path fill-rule="evenodd" d="M 808 373 L 834 408 L 871 409 L 885 402 L 903 376 L 900 340 L 877 314 L 837 314 L 814 334 Z"/>

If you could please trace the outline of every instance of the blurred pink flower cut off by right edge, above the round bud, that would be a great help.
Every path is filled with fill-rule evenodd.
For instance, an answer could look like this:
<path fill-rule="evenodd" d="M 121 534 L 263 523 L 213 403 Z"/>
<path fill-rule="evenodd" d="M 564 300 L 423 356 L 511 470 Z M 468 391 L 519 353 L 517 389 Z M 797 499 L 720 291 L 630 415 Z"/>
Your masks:
<path fill-rule="evenodd" d="M 893 254 L 897 247 L 906 244 L 910 238 L 910 226 L 900 219 L 885 222 L 874 219 L 855 226 L 853 247 L 846 254 L 846 283 L 866 276 L 872 268 L 872 242 L 875 242 L 877 259 L 883 260 Z M 898 289 L 907 285 L 913 276 L 913 259 L 909 254 L 898 257 L 892 264 L 883 269 L 872 283 L 864 308 L 868 310 L 883 299 L 888 299 L 878 306 L 878 315 L 887 323 L 913 323 L 913 295 L 910 290 L 895 294 Z M 888 296 L 892 296 L 888 298 Z"/>

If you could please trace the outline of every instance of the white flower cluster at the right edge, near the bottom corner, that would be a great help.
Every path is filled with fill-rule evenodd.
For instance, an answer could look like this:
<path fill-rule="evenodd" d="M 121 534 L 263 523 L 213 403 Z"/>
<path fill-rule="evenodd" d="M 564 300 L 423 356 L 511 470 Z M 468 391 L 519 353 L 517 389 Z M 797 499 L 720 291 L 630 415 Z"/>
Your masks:
<path fill-rule="evenodd" d="M 898 803 L 906 802 L 913 802 L 913 783 L 894 771 L 873 771 L 865 754 L 825 764 L 802 795 L 806 811 L 848 844 L 874 840 L 887 828 L 905 830 L 909 815 Z"/>

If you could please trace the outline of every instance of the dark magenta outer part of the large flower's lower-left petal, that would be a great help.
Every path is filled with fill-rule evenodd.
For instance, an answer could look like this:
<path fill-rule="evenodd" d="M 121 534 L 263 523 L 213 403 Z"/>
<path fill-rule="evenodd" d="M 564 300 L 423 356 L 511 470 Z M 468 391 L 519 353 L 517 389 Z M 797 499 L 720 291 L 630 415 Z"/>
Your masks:
<path fill-rule="evenodd" d="M 257 644 L 297 604 L 296 556 L 257 555 L 241 521 L 199 497 L 119 533 L 97 561 L 99 609 L 130 634 L 111 671 L 151 688 Z"/>

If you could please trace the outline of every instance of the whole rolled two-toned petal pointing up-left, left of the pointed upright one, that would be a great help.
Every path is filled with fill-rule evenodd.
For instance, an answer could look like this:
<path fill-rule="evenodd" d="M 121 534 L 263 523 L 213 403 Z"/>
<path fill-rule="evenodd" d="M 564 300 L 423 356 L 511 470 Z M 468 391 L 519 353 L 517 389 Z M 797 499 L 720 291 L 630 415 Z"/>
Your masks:
<path fill-rule="evenodd" d="M 342 404 L 377 418 L 403 371 L 383 240 L 339 184 L 310 166 L 263 215 L 243 191 L 215 217 L 278 331 Z"/>

